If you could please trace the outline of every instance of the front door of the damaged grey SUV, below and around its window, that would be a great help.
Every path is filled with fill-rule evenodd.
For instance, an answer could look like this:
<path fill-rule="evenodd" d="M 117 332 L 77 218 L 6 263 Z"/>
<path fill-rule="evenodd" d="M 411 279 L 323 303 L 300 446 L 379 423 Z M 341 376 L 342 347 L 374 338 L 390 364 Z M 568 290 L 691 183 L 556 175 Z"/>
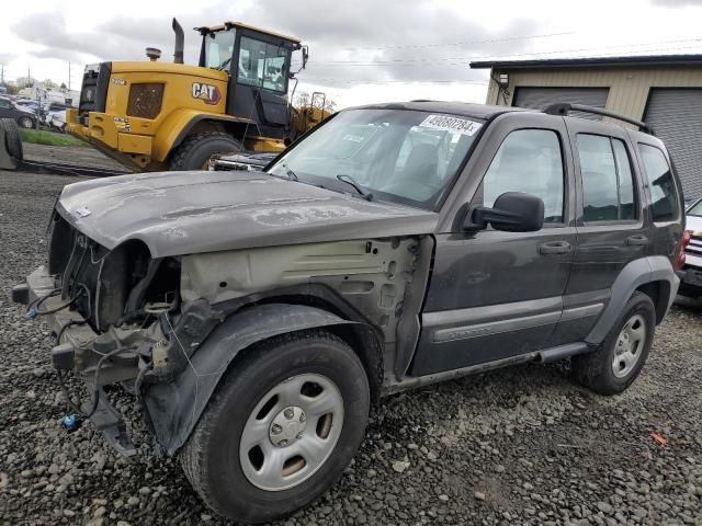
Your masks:
<path fill-rule="evenodd" d="M 414 376 L 542 348 L 561 319 L 576 244 L 568 137 L 562 118 L 530 128 L 512 122 L 502 122 L 506 129 L 490 140 L 499 146 L 479 153 L 491 160 L 468 209 L 490 207 L 505 192 L 528 193 L 544 202 L 544 227 L 466 231 L 453 221 L 454 231 L 437 235 Z"/>

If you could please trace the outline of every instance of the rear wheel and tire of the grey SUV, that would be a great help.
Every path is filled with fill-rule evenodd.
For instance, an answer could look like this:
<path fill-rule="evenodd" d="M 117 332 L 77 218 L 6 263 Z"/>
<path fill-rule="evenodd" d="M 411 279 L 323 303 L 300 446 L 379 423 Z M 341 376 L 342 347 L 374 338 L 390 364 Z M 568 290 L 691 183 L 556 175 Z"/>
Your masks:
<path fill-rule="evenodd" d="M 646 363 L 655 327 L 650 297 L 634 293 L 597 351 L 574 357 L 577 380 L 600 395 L 623 392 Z"/>

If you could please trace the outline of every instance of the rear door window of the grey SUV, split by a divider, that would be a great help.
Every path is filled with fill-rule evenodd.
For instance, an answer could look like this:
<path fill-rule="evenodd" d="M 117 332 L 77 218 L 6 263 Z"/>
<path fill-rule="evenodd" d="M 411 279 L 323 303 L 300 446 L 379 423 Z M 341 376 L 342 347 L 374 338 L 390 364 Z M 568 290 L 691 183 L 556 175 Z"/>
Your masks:
<path fill-rule="evenodd" d="M 626 147 L 620 139 L 578 134 L 582 178 L 582 220 L 636 219 L 633 172 Z"/>

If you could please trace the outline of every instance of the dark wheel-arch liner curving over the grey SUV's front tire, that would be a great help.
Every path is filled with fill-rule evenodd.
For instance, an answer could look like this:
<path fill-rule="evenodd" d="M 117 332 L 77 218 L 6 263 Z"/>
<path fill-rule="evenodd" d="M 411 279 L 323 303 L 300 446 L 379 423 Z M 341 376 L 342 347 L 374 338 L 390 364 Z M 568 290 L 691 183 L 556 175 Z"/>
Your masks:
<path fill-rule="evenodd" d="M 280 334 L 332 325 L 362 325 L 322 309 L 265 304 L 219 324 L 174 379 L 144 388 L 144 403 L 156 437 L 173 455 L 192 433 L 231 361 L 245 348 Z"/>

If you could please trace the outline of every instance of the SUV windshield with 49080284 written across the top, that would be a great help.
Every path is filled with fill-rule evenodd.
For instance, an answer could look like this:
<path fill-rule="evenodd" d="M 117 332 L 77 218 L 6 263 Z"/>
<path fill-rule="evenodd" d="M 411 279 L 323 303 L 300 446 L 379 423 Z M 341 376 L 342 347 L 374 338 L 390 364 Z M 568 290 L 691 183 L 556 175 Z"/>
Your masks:
<path fill-rule="evenodd" d="M 270 173 L 375 198 L 434 209 L 451 187 L 482 122 L 398 110 L 339 113 L 283 156 Z"/>

